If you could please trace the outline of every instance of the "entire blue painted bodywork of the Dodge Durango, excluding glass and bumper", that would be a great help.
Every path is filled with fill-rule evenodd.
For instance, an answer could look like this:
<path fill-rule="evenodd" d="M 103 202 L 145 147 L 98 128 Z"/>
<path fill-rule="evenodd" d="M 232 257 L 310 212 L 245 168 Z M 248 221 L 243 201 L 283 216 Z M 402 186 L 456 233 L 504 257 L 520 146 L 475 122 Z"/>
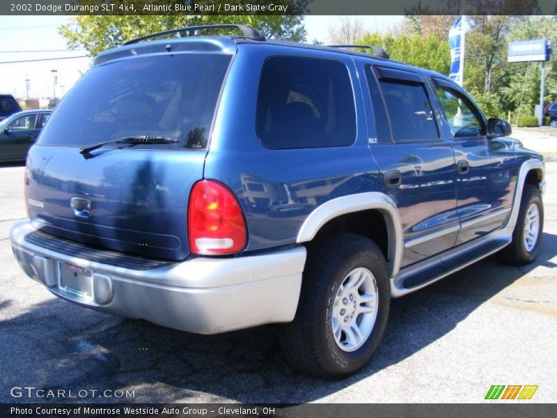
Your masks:
<path fill-rule="evenodd" d="M 31 216 L 43 223 L 44 231 L 118 251 L 186 258 L 189 191 L 196 180 L 208 178 L 226 184 L 237 195 L 249 233 L 246 251 L 256 251 L 295 245 L 306 217 L 330 199 L 379 191 L 397 204 L 405 242 L 435 237 L 405 250 L 403 265 L 411 265 L 501 226 L 506 215 L 458 232 L 462 221 L 511 206 L 520 164 L 539 157 L 508 146 L 505 139 L 454 141 L 439 116 L 434 88 L 427 84 L 429 77 L 446 77 L 417 68 L 411 70 L 427 85 L 441 138 L 407 144 L 369 141 L 377 138 L 377 132 L 366 65 L 381 62 L 407 70 L 401 63 L 222 37 L 130 45 L 102 54 L 97 62 L 134 59 L 138 48 L 146 54 L 168 54 L 168 42 L 173 50 L 230 53 L 237 48 L 209 150 L 107 148 L 86 160 L 76 148 L 34 146 L 28 160 L 29 197 L 45 207 L 31 206 Z M 354 86 L 357 120 L 352 146 L 269 150 L 260 144 L 255 122 L 258 85 L 269 56 L 335 59 L 346 66 Z M 469 162 L 469 173 L 457 173 L 459 160 Z M 384 176 L 393 170 L 400 171 L 402 181 L 390 187 Z M 91 199 L 90 217 L 74 216 L 73 196 Z M 451 232 L 439 233 L 444 229 Z"/>

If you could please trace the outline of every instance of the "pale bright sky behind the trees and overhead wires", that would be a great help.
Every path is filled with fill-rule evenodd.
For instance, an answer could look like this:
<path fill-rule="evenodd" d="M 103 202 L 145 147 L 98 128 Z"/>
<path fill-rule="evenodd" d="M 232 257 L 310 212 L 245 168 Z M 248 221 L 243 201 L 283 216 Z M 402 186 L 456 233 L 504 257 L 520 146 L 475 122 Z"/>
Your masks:
<path fill-rule="evenodd" d="M 360 19 L 364 29 L 384 32 L 402 17 L 360 16 Z M 69 50 L 64 38 L 58 34 L 58 27 L 69 20 L 70 17 L 66 16 L 0 16 L 0 93 L 25 98 L 25 80 L 29 79 L 30 98 L 52 98 L 54 88 L 56 98 L 60 98 L 77 82 L 92 60 L 88 57 L 70 58 L 86 55 L 86 52 Z M 306 40 L 328 42 L 329 27 L 339 23 L 339 16 L 306 16 Z M 49 60 L 8 63 L 30 59 Z M 56 70 L 56 86 L 52 70 Z"/>

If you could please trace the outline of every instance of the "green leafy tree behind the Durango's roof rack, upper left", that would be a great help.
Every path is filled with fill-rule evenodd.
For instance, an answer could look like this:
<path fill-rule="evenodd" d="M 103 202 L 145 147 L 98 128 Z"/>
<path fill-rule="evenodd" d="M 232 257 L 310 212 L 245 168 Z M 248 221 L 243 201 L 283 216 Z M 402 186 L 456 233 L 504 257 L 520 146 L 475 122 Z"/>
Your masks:
<path fill-rule="evenodd" d="M 143 8 L 143 3 L 157 4 L 157 1 L 134 1 L 136 9 Z M 252 3 L 263 4 L 264 1 L 254 0 Z M 277 0 L 274 3 L 291 2 Z M 298 1 L 296 4 L 300 7 L 306 4 L 306 1 Z M 149 33 L 184 26 L 230 23 L 253 26 L 271 39 L 301 42 L 306 38 L 301 15 L 79 15 L 74 17 L 72 22 L 62 25 L 59 32 L 65 38 L 68 47 L 84 48 L 91 56 L 95 56 L 104 49 L 122 45 L 127 40 Z"/>

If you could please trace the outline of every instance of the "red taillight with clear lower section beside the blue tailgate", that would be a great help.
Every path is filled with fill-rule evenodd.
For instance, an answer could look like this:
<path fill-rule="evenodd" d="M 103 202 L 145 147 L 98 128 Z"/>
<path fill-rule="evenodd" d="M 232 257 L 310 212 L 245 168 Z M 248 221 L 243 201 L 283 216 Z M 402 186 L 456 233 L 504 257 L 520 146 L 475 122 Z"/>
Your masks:
<path fill-rule="evenodd" d="M 189 249 L 193 254 L 234 254 L 246 247 L 246 222 L 230 190 L 214 180 L 198 181 L 188 208 Z"/>

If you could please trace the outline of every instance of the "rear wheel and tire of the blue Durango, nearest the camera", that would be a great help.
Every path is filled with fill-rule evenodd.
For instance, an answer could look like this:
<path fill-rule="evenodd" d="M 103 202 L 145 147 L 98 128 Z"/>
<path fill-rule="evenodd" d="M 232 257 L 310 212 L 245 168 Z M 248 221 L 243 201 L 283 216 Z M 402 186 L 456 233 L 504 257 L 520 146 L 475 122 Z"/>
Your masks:
<path fill-rule="evenodd" d="M 360 281 L 361 286 L 350 286 Z M 281 326 L 285 356 L 311 376 L 350 376 L 369 362 L 379 345 L 390 302 L 386 262 L 375 242 L 350 233 L 318 242 L 308 249 L 296 316 Z"/>

